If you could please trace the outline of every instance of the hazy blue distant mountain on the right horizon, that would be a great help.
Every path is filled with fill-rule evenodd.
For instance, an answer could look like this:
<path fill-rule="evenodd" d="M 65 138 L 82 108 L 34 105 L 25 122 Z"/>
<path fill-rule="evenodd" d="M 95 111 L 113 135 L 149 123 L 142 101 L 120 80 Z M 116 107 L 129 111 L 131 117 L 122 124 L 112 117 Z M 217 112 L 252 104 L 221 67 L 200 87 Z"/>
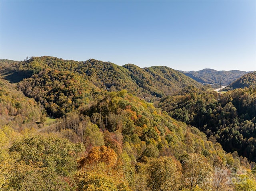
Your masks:
<path fill-rule="evenodd" d="M 235 81 L 236 79 L 240 78 L 242 75 L 249 73 L 249 72 L 239 71 L 239 70 L 216 71 L 213 69 L 203 69 L 200 71 L 189 71 L 189 72 L 181 71 L 181 72 L 200 83 L 220 84 L 220 81 L 221 81 L 222 85 L 228 85 L 233 81 Z"/>

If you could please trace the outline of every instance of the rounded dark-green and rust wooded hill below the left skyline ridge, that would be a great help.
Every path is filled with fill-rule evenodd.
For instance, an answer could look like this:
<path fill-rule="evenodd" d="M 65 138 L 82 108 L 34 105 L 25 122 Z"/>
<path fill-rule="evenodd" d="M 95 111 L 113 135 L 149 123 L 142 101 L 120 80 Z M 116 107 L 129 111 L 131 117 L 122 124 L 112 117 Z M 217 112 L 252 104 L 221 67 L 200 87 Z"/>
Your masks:
<path fill-rule="evenodd" d="M 100 89 L 80 75 L 46 69 L 18 84 L 26 96 L 34 98 L 54 117 L 73 110 L 84 110 Z"/>

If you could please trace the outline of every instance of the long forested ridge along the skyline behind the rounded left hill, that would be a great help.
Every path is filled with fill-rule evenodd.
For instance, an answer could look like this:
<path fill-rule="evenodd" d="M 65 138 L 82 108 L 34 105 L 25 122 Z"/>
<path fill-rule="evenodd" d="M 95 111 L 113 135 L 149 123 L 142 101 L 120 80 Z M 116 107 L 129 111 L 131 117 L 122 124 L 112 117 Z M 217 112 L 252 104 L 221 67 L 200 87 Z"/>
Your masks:
<path fill-rule="evenodd" d="M 141 69 L 131 64 L 122 67 L 95 59 L 73 61 L 48 56 L 31 57 L 16 64 L 18 74 L 25 78 L 45 69 L 74 72 L 97 87 L 111 91 L 126 89 L 140 96 L 162 97 L 188 85 L 202 86 L 179 71 L 160 66 Z"/>

